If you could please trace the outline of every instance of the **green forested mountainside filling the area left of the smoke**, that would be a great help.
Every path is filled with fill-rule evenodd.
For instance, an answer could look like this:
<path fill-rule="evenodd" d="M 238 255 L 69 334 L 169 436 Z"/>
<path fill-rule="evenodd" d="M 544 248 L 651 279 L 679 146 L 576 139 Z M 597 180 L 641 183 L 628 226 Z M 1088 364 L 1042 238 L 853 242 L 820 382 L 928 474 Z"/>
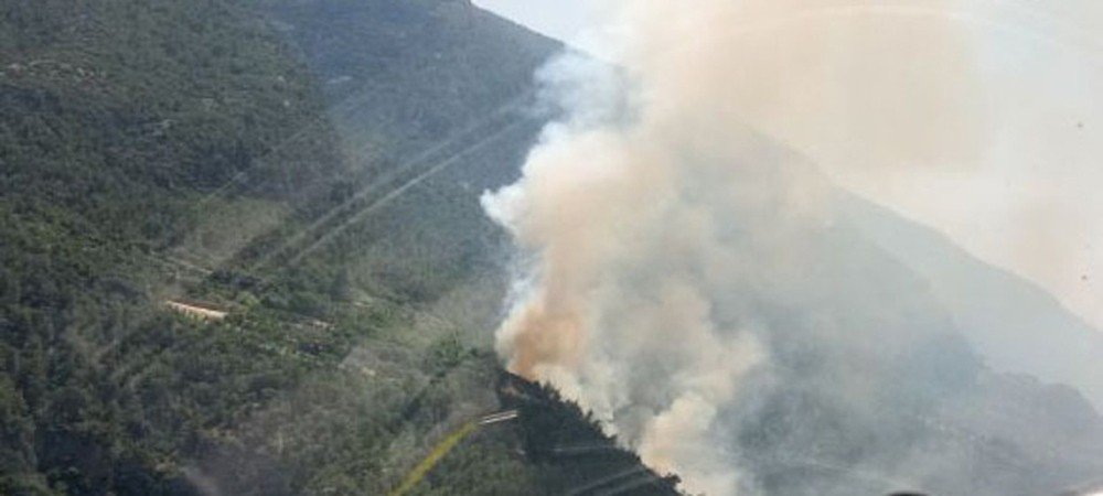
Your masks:
<path fill-rule="evenodd" d="M 555 50 L 459 1 L 0 6 L 0 493 L 381 494 L 504 408 L 476 198 Z M 593 490 L 536 418 L 415 492 Z"/>

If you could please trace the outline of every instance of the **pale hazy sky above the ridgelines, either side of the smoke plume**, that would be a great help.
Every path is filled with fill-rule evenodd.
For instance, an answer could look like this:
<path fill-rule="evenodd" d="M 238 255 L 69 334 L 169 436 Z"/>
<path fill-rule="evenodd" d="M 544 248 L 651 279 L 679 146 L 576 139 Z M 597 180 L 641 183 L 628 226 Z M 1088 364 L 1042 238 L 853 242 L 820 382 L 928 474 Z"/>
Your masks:
<path fill-rule="evenodd" d="M 482 4 L 537 31 L 568 36 L 606 60 L 618 50 L 617 33 L 625 31 L 608 15 L 615 1 Z M 769 43 L 792 33 L 825 33 L 812 58 L 802 44 L 735 53 L 748 71 L 782 75 L 779 91 L 791 95 L 785 119 L 772 121 L 745 105 L 750 121 L 813 155 L 843 186 L 934 227 L 973 256 L 1053 293 L 1089 324 L 1103 325 L 1103 285 L 1095 277 L 1103 246 L 1103 203 L 1095 194 L 1103 186 L 1096 165 L 1103 127 L 1093 125 L 1103 112 L 1094 90 L 1103 84 L 1103 46 L 1093 34 L 1103 23 L 1097 2 L 815 0 L 786 10 L 773 15 L 748 9 L 725 21 L 743 32 L 745 46 L 756 45 L 756 39 Z M 915 39 L 936 25 L 967 35 L 925 37 L 925 47 L 893 44 L 895 53 L 880 56 L 876 45 L 832 34 L 863 23 L 913 30 Z M 946 47 L 946 41 L 953 50 L 944 53 L 951 56 L 932 58 L 932 46 Z M 747 56 L 762 51 L 772 56 Z M 967 64 L 943 64 L 954 56 Z M 848 76 L 831 71 L 846 64 L 852 64 Z M 783 80 L 786 67 L 800 67 L 802 77 Z M 879 76 L 832 85 L 865 73 Z M 931 77 L 950 73 L 962 77 Z M 911 101 L 923 101 L 924 108 L 912 111 Z M 930 147 L 938 153 L 915 153 L 915 147 L 900 153 L 885 145 L 891 141 L 886 130 L 922 122 L 938 123 L 924 138 L 928 145 L 939 141 Z"/>

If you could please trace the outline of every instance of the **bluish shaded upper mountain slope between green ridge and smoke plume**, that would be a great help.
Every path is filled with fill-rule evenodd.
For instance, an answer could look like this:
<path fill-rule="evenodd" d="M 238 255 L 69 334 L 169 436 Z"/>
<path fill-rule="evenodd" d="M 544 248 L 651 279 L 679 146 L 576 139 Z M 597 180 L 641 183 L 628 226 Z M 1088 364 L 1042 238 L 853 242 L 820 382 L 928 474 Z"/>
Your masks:
<path fill-rule="evenodd" d="M 275 260 L 352 256 L 365 287 L 438 302 L 486 339 L 510 251 L 478 198 L 516 177 L 543 126 L 533 73 L 559 44 L 467 2 L 266 6 L 324 82 L 355 171 L 347 198 Z"/>

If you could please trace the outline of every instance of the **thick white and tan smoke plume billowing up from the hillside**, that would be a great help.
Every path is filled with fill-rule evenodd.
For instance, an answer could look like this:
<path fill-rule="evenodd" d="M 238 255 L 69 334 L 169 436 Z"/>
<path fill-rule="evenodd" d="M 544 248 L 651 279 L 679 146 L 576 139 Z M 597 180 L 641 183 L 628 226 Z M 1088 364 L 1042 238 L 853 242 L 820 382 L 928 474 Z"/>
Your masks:
<path fill-rule="evenodd" d="M 567 55 L 544 69 L 565 115 L 523 179 L 483 198 L 528 255 L 497 332 L 508 367 L 578 400 L 692 493 L 750 487 L 724 419 L 748 377 L 779 366 L 778 336 L 797 333 L 779 309 L 870 337 L 846 334 L 826 300 L 850 288 L 820 276 L 835 190 L 775 142 L 870 166 L 974 161 L 983 126 L 963 117 L 983 99 L 947 7 L 611 3 L 611 64 Z M 878 298 L 895 295 L 866 304 Z"/>

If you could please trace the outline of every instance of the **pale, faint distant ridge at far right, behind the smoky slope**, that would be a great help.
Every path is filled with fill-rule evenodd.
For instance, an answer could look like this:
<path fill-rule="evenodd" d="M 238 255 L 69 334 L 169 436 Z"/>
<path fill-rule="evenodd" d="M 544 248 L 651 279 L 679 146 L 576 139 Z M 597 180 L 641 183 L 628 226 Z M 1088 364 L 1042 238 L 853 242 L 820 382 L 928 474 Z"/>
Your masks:
<path fill-rule="evenodd" d="M 857 197 L 843 202 L 855 228 L 903 260 L 951 312 L 996 370 L 1074 386 L 1103 406 L 1103 333 L 1053 296 L 985 265 L 953 242 Z"/>

